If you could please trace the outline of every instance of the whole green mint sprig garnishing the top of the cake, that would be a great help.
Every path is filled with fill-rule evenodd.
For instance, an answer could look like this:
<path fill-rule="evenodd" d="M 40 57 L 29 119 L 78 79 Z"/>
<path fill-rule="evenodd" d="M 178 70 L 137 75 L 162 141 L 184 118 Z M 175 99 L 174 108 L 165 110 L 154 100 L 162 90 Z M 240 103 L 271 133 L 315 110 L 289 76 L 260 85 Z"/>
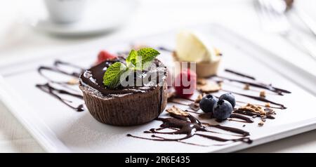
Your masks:
<path fill-rule="evenodd" d="M 133 70 L 147 69 L 159 54 L 153 48 L 141 48 L 139 51 L 131 50 L 125 60 L 126 65 L 122 62 L 114 62 L 107 68 L 103 76 L 104 85 L 112 89 L 117 88 Z"/>

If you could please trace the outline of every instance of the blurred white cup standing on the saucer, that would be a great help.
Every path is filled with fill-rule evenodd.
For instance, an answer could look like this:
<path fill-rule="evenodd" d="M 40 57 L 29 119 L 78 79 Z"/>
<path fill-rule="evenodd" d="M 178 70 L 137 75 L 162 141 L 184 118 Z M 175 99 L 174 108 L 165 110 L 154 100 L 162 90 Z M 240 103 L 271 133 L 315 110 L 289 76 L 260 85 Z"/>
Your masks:
<path fill-rule="evenodd" d="M 45 0 L 45 4 L 51 20 L 70 23 L 82 18 L 86 0 Z"/>

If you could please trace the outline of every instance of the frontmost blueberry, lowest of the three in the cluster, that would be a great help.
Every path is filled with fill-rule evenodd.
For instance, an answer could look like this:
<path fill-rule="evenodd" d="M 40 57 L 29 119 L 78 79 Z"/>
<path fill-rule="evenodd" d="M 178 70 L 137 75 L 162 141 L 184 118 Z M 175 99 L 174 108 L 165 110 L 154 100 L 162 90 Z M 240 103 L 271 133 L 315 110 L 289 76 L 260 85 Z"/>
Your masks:
<path fill-rule="evenodd" d="M 213 116 L 218 120 L 224 120 L 232 114 L 232 105 L 227 100 L 218 100 L 213 107 Z"/>

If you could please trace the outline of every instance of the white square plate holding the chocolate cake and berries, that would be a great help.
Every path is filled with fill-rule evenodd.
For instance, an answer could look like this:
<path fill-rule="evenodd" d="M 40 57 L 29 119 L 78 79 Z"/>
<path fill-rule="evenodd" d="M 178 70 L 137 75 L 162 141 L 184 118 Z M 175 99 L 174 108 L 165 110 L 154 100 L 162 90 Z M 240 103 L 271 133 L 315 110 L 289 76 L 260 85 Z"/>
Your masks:
<path fill-rule="evenodd" d="M 225 68 L 235 69 L 256 76 L 258 81 L 272 83 L 276 87 L 292 92 L 280 96 L 267 91 L 268 99 L 283 103 L 287 109 L 277 110 L 276 118 L 268 119 L 264 126 L 258 126 L 259 119 L 254 119 L 255 123 L 235 121 L 220 123 L 249 131 L 250 138 L 254 141 L 251 145 L 243 142 L 227 142 L 227 145 L 222 146 L 200 147 L 179 142 L 129 138 L 126 134 L 131 133 L 150 138 L 150 134 L 145 134 L 143 131 L 158 128 L 161 122 L 152 121 L 141 126 L 131 127 L 105 125 L 93 119 L 88 111 L 75 112 L 35 87 L 37 83 L 46 83 L 46 79 L 37 73 L 39 65 L 52 65 L 54 60 L 59 59 L 89 67 L 96 60 L 96 54 L 101 49 L 97 45 L 87 45 L 77 48 L 76 51 L 47 55 L 36 60 L 23 60 L 14 65 L 0 67 L 2 75 L 0 77 L 0 98 L 47 152 L 233 152 L 316 128 L 316 112 L 313 107 L 316 104 L 316 98 L 305 91 L 304 86 L 297 86 L 289 80 L 291 74 L 285 70 L 291 67 L 283 62 L 272 61 L 275 55 L 240 38 L 224 27 L 204 25 L 192 27 L 192 29 L 202 32 L 216 47 L 220 48 L 220 51 L 223 51 L 220 75 L 239 78 L 223 71 Z M 130 44 L 173 48 L 175 36 L 176 31 L 172 31 L 140 39 L 106 43 L 103 44 L 103 48 L 113 53 L 126 50 Z M 166 62 L 170 60 L 169 55 L 170 53 L 162 51 L 159 58 Z M 234 91 L 242 89 L 240 85 L 239 87 L 228 85 L 228 87 L 233 88 Z M 246 93 L 258 95 L 256 91 Z M 256 104 L 260 103 L 238 95 L 236 98 Z M 264 105 L 262 102 L 261 104 Z M 171 105 L 174 104 L 169 104 L 167 107 Z M 178 107 L 186 108 L 181 105 Z M 162 116 L 165 115 L 166 112 L 162 113 Z M 218 144 L 213 140 L 205 140 L 197 136 L 190 138 L 187 142 L 203 145 Z"/>

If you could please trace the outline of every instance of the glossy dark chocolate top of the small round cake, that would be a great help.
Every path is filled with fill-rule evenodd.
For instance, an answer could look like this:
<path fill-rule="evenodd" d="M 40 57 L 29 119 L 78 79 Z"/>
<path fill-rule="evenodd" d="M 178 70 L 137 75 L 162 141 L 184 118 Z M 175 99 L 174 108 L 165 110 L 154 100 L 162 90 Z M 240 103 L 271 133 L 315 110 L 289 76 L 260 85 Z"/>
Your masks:
<path fill-rule="evenodd" d="M 96 95 L 105 97 L 121 96 L 129 93 L 145 93 L 159 86 L 166 79 L 166 67 L 157 59 L 154 59 L 152 65 L 147 70 L 136 70 L 126 77 L 126 82 L 119 87 L 110 89 L 103 83 L 103 76 L 114 62 L 125 63 L 125 58 L 119 56 L 112 60 L 106 60 L 99 65 L 91 67 L 84 71 L 79 77 L 79 83 L 82 86 L 88 86 L 96 91 Z"/>

